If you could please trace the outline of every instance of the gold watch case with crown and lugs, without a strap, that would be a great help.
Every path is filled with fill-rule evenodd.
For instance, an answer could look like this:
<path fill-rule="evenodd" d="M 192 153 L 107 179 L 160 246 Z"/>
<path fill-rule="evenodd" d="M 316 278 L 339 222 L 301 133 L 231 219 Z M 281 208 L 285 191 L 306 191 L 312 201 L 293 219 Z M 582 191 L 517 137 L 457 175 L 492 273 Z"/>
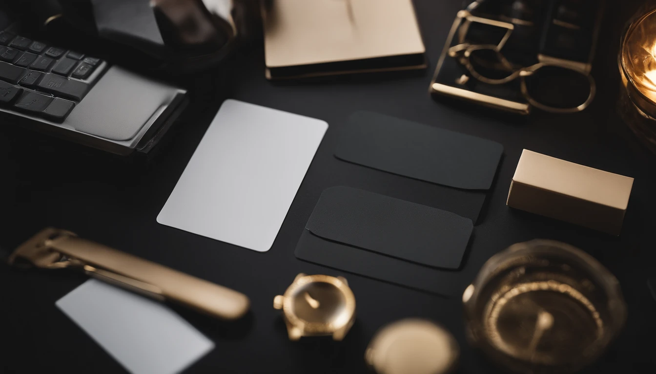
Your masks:
<path fill-rule="evenodd" d="M 290 340 L 302 336 L 333 335 L 344 339 L 356 317 L 356 298 L 346 279 L 300 273 L 284 295 L 274 297 L 283 310 Z"/>

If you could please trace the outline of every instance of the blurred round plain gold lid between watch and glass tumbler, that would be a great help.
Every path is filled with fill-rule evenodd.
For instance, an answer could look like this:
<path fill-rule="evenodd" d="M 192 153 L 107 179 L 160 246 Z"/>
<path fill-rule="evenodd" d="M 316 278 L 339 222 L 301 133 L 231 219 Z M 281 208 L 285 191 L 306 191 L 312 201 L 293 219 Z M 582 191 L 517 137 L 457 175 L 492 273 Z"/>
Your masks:
<path fill-rule="evenodd" d="M 371 339 L 365 360 L 378 374 L 446 374 L 458 356 L 449 331 L 427 320 L 407 319 L 383 327 Z"/>

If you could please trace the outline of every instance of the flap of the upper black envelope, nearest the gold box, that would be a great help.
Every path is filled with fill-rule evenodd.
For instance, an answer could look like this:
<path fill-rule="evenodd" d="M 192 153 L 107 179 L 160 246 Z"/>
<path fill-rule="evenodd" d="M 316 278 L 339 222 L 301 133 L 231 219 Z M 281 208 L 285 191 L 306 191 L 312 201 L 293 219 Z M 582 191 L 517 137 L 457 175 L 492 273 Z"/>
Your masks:
<path fill-rule="evenodd" d="M 503 153 L 495 141 L 379 113 L 347 122 L 338 159 L 459 189 L 489 189 Z"/>

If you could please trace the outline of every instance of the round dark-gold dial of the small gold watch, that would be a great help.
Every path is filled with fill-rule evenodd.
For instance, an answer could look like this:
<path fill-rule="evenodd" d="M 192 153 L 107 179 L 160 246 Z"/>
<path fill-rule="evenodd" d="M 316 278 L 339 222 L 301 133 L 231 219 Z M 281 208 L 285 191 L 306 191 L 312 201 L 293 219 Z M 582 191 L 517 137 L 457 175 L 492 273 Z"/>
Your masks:
<path fill-rule="evenodd" d="M 295 291 L 292 299 L 291 312 L 304 322 L 338 326 L 344 319 L 346 297 L 333 284 L 326 282 L 304 284 Z"/>

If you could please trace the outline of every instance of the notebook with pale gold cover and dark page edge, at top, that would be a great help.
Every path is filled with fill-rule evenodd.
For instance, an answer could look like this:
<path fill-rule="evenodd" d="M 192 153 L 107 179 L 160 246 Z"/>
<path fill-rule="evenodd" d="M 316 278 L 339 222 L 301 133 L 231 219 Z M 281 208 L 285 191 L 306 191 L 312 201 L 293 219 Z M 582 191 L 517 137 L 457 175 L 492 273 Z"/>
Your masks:
<path fill-rule="evenodd" d="M 411 0 L 272 0 L 262 18 L 268 79 L 426 68 Z"/>

